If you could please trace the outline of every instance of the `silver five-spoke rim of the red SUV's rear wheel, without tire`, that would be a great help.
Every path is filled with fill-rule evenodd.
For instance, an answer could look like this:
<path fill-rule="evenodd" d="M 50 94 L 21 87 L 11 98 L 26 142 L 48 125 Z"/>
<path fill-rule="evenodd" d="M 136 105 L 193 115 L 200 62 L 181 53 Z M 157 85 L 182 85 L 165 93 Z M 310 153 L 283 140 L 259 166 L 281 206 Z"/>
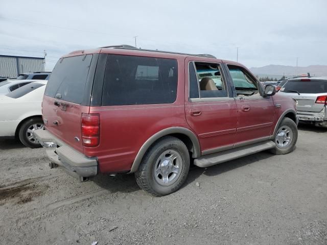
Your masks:
<path fill-rule="evenodd" d="M 167 150 L 154 164 L 154 179 L 159 185 L 172 185 L 180 176 L 182 167 L 183 161 L 180 154 L 175 150 Z"/>

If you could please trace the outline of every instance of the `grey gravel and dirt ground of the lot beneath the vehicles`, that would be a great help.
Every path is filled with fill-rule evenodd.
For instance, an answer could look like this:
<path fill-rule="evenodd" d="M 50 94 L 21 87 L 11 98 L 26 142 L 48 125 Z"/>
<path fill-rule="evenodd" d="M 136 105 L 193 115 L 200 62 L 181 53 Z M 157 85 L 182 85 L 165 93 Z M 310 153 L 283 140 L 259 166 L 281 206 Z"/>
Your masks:
<path fill-rule="evenodd" d="M 153 198 L 133 175 L 79 183 L 3 140 L 0 244 L 327 244 L 326 151 L 327 130 L 300 126 L 289 155 L 194 167 Z"/>

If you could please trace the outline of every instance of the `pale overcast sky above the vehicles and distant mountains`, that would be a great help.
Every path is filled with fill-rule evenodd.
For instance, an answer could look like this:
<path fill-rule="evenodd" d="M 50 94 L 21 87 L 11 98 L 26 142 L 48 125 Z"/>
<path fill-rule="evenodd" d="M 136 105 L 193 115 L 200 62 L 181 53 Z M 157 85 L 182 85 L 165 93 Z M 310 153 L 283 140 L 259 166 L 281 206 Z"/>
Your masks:
<path fill-rule="evenodd" d="M 1 0 L 0 54 L 46 56 L 113 44 L 237 59 L 248 67 L 327 65 L 327 0 Z"/>

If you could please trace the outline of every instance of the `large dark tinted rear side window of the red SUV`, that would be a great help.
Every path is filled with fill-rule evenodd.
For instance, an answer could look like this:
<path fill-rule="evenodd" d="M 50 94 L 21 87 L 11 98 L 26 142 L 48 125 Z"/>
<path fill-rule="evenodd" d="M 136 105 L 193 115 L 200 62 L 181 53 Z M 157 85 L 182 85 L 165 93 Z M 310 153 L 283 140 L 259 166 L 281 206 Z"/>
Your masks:
<path fill-rule="evenodd" d="M 108 56 L 103 106 L 168 104 L 175 102 L 176 93 L 176 60 Z"/>

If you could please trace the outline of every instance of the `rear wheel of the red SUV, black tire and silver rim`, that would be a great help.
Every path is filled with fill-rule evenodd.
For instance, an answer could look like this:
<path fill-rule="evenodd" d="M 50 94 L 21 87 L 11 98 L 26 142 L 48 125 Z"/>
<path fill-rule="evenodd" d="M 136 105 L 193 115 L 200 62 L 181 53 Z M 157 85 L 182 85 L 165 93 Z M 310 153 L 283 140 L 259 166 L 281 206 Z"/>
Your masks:
<path fill-rule="evenodd" d="M 155 197 L 178 190 L 190 169 L 190 155 L 178 138 L 166 136 L 154 143 L 135 173 L 139 187 Z"/>

